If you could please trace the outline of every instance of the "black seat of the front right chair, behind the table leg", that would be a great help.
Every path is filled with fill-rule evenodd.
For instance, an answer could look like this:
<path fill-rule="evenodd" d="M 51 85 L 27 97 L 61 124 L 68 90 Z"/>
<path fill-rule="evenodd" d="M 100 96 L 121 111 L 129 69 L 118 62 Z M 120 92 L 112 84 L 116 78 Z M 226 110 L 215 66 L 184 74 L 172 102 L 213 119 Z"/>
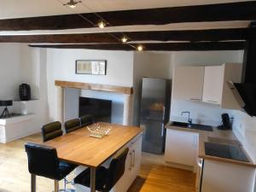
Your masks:
<path fill-rule="evenodd" d="M 100 166 L 96 169 L 96 190 L 108 191 L 108 169 Z M 90 168 L 81 172 L 74 178 L 74 183 L 90 188 Z"/>

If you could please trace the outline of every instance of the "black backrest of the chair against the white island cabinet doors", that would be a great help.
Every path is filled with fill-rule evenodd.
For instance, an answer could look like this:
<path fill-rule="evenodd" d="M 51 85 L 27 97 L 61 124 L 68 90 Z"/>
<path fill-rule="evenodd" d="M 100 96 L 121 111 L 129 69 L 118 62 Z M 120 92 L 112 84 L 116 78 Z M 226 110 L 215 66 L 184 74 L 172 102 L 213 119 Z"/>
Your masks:
<path fill-rule="evenodd" d="M 124 175 L 125 172 L 125 160 L 128 154 L 129 148 L 125 148 L 122 152 L 120 152 L 117 157 L 111 160 L 109 170 L 109 183 L 110 188 L 115 185 L 119 181 L 119 178 Z"/>

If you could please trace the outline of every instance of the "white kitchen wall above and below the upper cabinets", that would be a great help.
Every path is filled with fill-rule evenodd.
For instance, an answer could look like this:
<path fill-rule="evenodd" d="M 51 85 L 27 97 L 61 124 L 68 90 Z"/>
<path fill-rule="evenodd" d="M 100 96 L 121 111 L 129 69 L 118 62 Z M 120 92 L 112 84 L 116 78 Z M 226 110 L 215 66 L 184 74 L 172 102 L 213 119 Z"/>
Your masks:
<path fill-rule="evenodd" d="M 172 52 L 172 70 L 177 65 L 221 65 L 224 62 L 242 62 L 243 51 L 178 51 Z M 221 113 L 230 113 L 212 104 L 172 100 L 171 119 L 187 120 L 182 111 L 190 111 L 194 122 L 219 125 Z"/>

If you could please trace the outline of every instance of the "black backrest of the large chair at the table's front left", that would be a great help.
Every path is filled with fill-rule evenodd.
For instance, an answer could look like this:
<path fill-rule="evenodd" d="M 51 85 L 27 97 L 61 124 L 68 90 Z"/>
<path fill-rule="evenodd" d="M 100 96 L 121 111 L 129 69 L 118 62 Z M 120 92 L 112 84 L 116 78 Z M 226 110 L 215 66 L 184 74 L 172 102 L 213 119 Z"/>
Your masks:
<path fill-rule="evenodd" d="M 55 148 L 35 143 L 26 143 L 25 148 L 30 173 L 51 179 L 58 177 L 60 161 Z"/>

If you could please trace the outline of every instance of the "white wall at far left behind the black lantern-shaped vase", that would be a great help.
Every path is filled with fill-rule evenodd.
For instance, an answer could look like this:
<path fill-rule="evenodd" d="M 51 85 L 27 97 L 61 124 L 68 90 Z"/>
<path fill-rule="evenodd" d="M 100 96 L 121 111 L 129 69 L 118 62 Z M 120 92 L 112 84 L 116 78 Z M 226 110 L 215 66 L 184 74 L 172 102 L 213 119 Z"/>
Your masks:
<path fill-rule="evenodd" d="M 43 49 L 32 49 L 26 44 L 0 44 L 0 99 L 19 100 L 19 85 L 30 84 L 32 99 L 36 102 L 14 102 L 9 111 L 34 113 L 20 135 L 26 136 L 40 131 L 47 118 L 46 55 Z M 2 113 L 3 108 L 0 108 Z M 25 132 L 24 132 L 25 131 Z"/>

